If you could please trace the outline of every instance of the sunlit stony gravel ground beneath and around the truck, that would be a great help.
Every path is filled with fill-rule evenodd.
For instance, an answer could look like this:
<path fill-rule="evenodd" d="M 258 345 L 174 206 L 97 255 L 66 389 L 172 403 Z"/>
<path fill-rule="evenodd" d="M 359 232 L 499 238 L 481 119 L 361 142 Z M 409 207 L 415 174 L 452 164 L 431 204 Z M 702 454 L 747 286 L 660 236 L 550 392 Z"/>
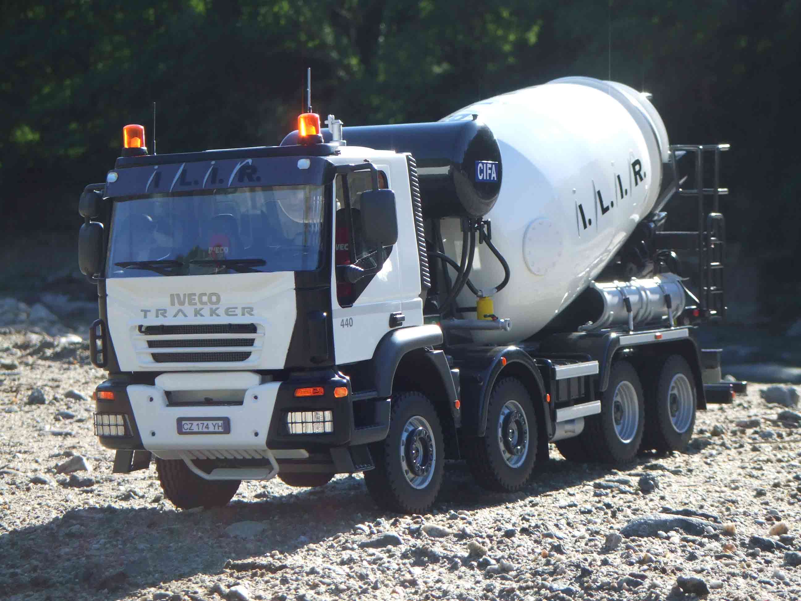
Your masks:
<path fill-rule="evenodd" d="M 686 453 L 619 470 L 553 449 L 531 486 L 503 495 L 453 463 L 423 516 L 376 510 L 359 475 L 312 490 L 244 482 L 227 507 L 176 511 L 152 466 L 111 474 L 91 431 L 104 373 L 85 346 L 0 333 L 0 597 L 801 595 L 801 415 L 763 400 L 766 385 L 699 412 Z"/>

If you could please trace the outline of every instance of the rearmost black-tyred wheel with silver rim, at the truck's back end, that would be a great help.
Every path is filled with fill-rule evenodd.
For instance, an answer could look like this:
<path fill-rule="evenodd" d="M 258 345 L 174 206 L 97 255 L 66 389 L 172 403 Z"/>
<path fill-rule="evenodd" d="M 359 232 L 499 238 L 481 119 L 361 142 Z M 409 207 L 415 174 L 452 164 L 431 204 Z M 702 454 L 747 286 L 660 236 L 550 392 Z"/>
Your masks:
<path fill-rule="evenodd" d="M 685 450 L 693 436 L 698 407 L 690 365 L 681 355 L 671 355 L 648 384 L 643 444 L 659 452 Z"/>

